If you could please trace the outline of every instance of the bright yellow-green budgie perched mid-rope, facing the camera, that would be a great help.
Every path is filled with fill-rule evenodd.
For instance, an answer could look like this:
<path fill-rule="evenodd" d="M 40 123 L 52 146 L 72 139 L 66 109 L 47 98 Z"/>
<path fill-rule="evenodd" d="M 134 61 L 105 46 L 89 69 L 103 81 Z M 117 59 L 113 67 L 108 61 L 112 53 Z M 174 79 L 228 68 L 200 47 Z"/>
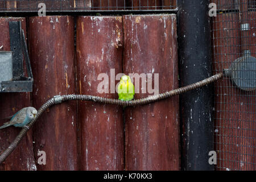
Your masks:
<path fill-rule="evenodd" d="M 121 101 L 131 101 L 134 97 L 134 85 L 131 82 L 131 78 L 127 75 L 123 75 L 118 85 L 118 96 Z"/>

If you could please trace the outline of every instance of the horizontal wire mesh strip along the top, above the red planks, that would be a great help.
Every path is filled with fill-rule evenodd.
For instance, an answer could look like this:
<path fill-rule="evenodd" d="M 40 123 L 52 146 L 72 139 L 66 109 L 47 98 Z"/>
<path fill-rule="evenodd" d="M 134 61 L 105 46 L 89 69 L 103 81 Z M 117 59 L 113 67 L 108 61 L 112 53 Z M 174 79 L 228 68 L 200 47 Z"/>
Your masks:
<path fill-rule="evenodd" d="M 38 11 L 39 3 L 45 3 L 47 11 L 176 9 L 176 0 L 3 0 L 0 11 Z"/>

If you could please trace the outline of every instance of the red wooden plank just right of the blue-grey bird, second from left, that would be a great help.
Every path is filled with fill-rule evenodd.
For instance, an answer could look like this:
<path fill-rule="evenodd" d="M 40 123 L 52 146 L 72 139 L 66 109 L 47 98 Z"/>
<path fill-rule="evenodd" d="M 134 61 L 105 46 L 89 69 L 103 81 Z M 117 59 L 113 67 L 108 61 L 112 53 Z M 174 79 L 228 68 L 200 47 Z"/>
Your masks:
<path fill-rule="evenodd" d="M 59 94 L 75 94 L 74 20 L 72 16 L 29 18 L 29 43 L 34 92 L 32 103 L 40 107 Z M 34 126 L 34 152 L 46 152 L 40 170 L 78 169 L 76 102 L 51 107 Z"/>

